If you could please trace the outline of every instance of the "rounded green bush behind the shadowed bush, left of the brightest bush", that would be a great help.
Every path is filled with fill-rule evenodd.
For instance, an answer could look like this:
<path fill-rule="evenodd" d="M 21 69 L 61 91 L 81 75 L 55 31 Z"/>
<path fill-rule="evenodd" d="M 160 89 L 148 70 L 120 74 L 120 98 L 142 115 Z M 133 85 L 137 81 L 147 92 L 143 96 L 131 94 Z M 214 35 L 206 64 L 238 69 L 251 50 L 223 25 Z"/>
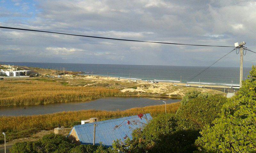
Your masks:
<path fill-rule="evenodd" d="M 205 124 L 211 124 L 218 117 L 220 108 L 228 100 L 221 95 L 188 92 L 181 100 L 176 115 L 181 129 L 201 130 Z"/>

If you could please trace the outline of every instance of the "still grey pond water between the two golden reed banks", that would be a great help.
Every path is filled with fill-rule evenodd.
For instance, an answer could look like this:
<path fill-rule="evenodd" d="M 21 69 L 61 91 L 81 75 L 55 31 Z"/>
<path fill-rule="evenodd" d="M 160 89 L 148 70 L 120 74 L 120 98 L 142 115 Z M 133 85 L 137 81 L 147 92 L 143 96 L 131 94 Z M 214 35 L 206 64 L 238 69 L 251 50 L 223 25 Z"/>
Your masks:
<path fill-rule="evenodd" d="M 55 103 L 47 105 L 36 106 L 14 106 L 14 107 L 0 107 L 0 115 L 6 116 L 20 116 L 20 115 L 38 115 L 48 114 L 63 111 L 78 111 L 78 110 L 126 110 L 133 107 L 144 107 L 151 105 L 162 105 L 163 100 L 166 104 L 180 101 L 180 99 L 153 99 L 153 98 L 120 98 L 108 97 L 100 98 L 87 102 L 69 102 L 69 103 Z"/>

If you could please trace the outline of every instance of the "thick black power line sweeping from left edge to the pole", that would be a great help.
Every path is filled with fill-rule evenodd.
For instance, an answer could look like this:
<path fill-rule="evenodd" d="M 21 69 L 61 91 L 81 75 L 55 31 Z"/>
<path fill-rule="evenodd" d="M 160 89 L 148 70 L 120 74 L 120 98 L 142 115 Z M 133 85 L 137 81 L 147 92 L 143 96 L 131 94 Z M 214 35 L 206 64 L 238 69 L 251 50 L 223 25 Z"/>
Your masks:
<path fill-rule="evenodd" d="M 71 35 L 71 36 L 80 36 L 80 37 L 89 37 L 89 38 L 99 38 L 99 39 L 109 39 L 109 40 L 122 40 L 122 41 L 135 41 L 135 42 L 150 42 L 150 43 L 172 44 L 172 45 L 205 46 L 205 47 L 233 47 L 233 46 L 197 45 L 197 44 L 181 44 L 181 43 L 158 42 L 158 41 L 142 41 L 142 40 L 130 40 L 130 39 L 117 39 L 117 38 L 109 38 L 109 37 L 97 37 L 97 36 L 88 36 L 88 35 L 79 35 L 79 34 L 57 33 L 57 32 L 42 31 L 42 30 L 33 30 L 33 29 L 21 29 L 21 28 L 13 28 L 13 27 L 5 27 L 5 26 L 0 26 L 0 28 L 4 28 L 4 29 L 13 29 L 13 30 L 23 30 L 23 31 L 33 31 L 33 32 L 43 32 L 43 33 L 56 33 L 56 34 L 65 34 L 65 35 Z"/>

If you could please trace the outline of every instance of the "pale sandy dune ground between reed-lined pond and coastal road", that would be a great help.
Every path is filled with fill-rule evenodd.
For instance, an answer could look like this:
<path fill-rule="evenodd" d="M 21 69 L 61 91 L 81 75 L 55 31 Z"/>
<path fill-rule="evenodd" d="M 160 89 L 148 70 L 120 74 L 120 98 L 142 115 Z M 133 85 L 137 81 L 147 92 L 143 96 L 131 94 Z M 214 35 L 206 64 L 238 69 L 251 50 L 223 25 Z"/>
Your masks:
<path fill-rule="evenodd" d="M 153 94 L 155 96 L 177 98 L 183 97 L 186 92 L 194 90 L 225 95 L 224 92 L 215 89 L 175 86 L 172 83 L 149 83 L 146 81 L 135 82 L 135 80 L 118 79 L 116 77 L 65 75 L 63 79 L 66 80 L 68 85 L 116 88 L 122 92 L 136 92 L 138 96 Z"/>

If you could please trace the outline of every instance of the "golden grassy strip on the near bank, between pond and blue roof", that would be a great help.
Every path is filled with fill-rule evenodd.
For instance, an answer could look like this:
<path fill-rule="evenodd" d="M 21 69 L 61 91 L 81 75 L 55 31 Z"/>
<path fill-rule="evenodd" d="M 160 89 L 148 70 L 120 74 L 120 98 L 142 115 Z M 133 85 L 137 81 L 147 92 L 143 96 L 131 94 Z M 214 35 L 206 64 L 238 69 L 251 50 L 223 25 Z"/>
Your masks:
<path fill-rule="evenodd" d="M 180 106 L 180 102 L 167 104 L 167 112 L 175 113 Z M 62 112 L 45 115 L 0 117 L 0 131 L 5 131 L 7 140 L 20 137 L 27 137 L 40 130 L 51 130 L 58 124 L 64 127 L 72 127 L 81 120 L 97 117 L 99 120 L 108 120 L 124 116 L 136 115 L 138 113 L 150 113 L 153 117 L 164 113 L 164 105 L 147 106 L 143 108 L 132 108 L 125 111 L 96 111 L 84 110 L 76 112 Z M 0 135 L 0 143 L 3 143 L 3 135 Z"/>

